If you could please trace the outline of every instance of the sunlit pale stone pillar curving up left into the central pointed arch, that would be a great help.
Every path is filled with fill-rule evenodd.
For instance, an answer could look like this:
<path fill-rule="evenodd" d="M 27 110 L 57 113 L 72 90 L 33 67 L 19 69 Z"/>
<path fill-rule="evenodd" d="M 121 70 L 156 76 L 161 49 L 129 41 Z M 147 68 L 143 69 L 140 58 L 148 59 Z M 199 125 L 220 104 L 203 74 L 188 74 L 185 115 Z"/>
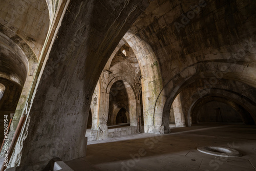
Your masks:
<path fill-rule="evenodd" d="M 163 83 L 159 61 L 152 47 L 132 31 L 129 30 L 124 39 L 133 48 L 141 69 L 145 133 L 163 134 L 162 104 L 166 98 L 161 94 Z"/>

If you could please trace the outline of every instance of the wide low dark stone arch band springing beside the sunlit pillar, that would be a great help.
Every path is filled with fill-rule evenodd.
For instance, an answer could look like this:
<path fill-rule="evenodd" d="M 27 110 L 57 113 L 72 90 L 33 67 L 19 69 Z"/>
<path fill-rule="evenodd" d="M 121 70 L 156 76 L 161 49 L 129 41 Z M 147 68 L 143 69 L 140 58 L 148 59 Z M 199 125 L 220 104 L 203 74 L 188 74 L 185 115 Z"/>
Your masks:
<path fill-rule="evenodd" d="M 251 87 L 256 88 L 256 81 L 251 77 L 253 76 L 251 72 L 255 71 L 256 73 L 256 69 L 245 66 L 247 66 L 247 62 L 243 61 L 237 63 L 228 63 L 223 60 L 201 61 L 185 68 L 179 74 L 170 79 L 170 81 L 167 82 L 161 91 L 163 95 L 168 97 L 163 107 L 163 125 L 165 133 L 169 132 L 169 124 L 167 119 L 169 118 L 170 107 L 174 99 L 182 91 L 182 89 L 191 82 L 195 82 L 201 78 L 210 79 L 214 77 L 216 79 L 239 80 Z M 244 69 L 241 70 L 241 68 Z M 216 76 L 216 73 L 220 75 Z M 158 103 L 160 103 L 160 101 L 161 100 L 159 99 Z"/>

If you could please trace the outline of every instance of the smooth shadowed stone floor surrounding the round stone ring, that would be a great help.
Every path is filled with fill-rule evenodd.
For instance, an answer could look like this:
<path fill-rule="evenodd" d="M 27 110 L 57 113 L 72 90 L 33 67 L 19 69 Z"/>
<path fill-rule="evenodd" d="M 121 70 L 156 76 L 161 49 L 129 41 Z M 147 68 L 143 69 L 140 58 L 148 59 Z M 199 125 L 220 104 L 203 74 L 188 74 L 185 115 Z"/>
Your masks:
<path fill-rule="evenodd" d="M 237 149 L 242 157 L 203 154 L 196 147 Z M 218 125 L 173 128 L 171 134 L 138 134 L 90 142 L 87 156 L 66 162 L 84 170 L 256 170 L 256 126 Z"/>

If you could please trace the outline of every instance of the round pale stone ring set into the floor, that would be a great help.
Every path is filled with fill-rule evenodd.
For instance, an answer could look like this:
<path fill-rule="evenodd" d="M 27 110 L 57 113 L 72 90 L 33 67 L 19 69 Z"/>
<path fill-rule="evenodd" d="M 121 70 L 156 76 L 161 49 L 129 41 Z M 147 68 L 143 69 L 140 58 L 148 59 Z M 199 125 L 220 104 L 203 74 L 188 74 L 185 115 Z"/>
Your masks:
<path fill-rule="evenodd" d="M 236 151 L 236 149 L 223 147 L 223 146 L 201 146 L 197 147 L 199 152 L 214 155 L 214 156 L 221 156 L 221 157 L 240 157 L 240 153 Z"/>

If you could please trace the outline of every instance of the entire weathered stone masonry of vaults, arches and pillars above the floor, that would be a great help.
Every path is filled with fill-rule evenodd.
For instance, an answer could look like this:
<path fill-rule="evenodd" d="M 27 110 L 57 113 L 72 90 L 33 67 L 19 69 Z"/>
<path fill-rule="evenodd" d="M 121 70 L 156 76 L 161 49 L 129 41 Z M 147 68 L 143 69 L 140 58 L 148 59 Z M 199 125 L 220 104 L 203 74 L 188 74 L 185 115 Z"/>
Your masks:
<path fill-rule="evenodd" d="M 89 140 L 164 134 L 174 123 L 218 122 L 228 105 L 230 122 L 255 124 L 255 23 L 250 0 L 3 0 L 0 110 L 16 108 L 10 139 L 29 107 L 10 166 L 84 156 L 87 123 Z M 125 118 L 130 126 L 108 128 Z"/>

